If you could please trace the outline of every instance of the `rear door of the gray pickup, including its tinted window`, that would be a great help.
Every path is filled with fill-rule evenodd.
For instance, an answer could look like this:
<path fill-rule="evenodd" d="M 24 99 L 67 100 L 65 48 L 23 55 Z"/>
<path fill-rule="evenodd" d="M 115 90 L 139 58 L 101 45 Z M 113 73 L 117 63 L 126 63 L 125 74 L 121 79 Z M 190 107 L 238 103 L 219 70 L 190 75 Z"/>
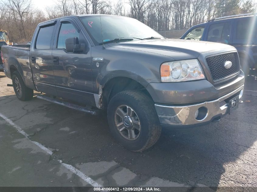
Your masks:
<path fill-rule="evenodd" d="M 56 96 L 52 64 L 53 35 L 57 21 L 43 23 L 36 29 L 30 48 L 30 62 L 36 88 Z"/>

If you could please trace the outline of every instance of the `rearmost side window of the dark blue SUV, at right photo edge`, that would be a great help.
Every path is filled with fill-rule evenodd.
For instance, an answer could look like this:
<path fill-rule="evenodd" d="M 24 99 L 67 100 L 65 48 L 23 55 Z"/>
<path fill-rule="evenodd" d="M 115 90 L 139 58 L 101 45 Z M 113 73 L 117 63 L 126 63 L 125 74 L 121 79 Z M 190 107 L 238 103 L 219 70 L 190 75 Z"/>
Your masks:
<path fill-rule="evenodd" d="M 241 20 L 237 22 L 237 39 L 256 38 L 256 22 L 254 20 Z"/>

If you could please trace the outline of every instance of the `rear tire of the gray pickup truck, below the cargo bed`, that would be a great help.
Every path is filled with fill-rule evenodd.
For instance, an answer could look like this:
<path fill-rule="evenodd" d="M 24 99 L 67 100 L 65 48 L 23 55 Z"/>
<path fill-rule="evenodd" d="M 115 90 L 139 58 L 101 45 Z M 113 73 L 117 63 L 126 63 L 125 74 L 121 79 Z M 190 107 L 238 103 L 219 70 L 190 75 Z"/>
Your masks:
<path fill-rule="evenodd" d="M 17 89 L 17 83 L 16 83 L 17 79 L 18 79 L 19 88 L 21 91 Z M 33 93 L 34 93 L 33 89 L 26 87 L 18 71 L 15 71 L 12 73 L 12 85 L 13 85 L 14 92 L 19 100 L 28 101 L 33 98 Z"/>

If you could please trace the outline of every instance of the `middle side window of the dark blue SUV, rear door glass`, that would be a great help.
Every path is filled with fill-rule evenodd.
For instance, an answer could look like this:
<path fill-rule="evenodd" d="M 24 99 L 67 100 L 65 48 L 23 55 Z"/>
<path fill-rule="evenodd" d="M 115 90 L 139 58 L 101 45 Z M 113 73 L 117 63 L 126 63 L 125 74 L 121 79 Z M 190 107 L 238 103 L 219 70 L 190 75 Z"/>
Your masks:
<path fill-rule="evenodd" d="M 207 41 L 228 43 L 231 32 L 231 22 L 210 25 Z"/>

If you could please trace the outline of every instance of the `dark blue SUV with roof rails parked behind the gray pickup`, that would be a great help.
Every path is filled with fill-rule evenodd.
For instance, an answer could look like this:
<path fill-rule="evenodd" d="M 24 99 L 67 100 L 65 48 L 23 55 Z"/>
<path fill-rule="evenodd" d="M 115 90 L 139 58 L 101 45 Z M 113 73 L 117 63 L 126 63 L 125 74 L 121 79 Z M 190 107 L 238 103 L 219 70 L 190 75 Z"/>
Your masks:
<path fill-rule="evenodd" d="M 225 43 L 238 50 L 245 76 L 257 67 L 257 14 L 232 15 L 191 27 L 180 39 Z"/>

